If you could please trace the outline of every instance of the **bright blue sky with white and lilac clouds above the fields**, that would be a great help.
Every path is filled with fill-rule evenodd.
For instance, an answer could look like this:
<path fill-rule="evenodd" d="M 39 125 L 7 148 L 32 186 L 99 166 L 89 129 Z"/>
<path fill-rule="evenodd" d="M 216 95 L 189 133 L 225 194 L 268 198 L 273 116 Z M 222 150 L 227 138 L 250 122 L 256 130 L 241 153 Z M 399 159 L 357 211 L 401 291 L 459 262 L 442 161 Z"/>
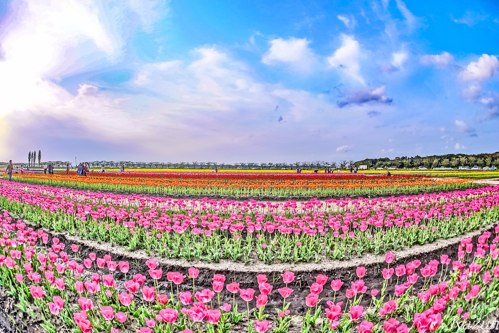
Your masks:
<path fill-rule="evenodd" d="M 0 0 L 0 161 L 499 150 L 497 1 Z"/>

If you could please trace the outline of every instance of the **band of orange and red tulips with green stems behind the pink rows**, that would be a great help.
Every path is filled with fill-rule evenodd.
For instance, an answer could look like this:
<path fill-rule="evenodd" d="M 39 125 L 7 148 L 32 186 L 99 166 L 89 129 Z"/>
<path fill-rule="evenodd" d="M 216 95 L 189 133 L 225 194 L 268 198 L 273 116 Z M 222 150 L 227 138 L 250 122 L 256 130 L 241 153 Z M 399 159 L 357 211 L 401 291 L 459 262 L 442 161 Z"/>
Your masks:
<path fill-rule="evenodd" d="M 17 174 L 15 178 L 94 191 L 248 197 L 370 196 L 449 191 L 471 186 L 470 179 L 363 173 L 115 172 L 91 173 L 88 177 L 31 173 Z"/>

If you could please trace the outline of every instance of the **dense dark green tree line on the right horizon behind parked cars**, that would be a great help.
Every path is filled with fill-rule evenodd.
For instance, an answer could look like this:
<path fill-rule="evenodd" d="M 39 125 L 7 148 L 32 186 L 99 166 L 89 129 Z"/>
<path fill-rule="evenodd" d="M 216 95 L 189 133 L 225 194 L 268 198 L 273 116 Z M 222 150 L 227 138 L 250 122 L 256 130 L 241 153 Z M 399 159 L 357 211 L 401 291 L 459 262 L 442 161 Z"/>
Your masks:
<path fill-rule="evenodd" d="M 394 160 L 389 158 L 384 159 L 366 159 L 363 161 L 355 162 L 355 165 L 367 165 L 369 167 L 419 167 L 425 166 L 427 168 L 434 167 L 458 167 L 458 166 L 492 166 L 499 165 L 499 152 L 494 154 L 478 154 L 478 155 L 466 155 L 466 154 L 448 154 L 442 156 L 427 156 L 427 157 L 396 157 Z"/>

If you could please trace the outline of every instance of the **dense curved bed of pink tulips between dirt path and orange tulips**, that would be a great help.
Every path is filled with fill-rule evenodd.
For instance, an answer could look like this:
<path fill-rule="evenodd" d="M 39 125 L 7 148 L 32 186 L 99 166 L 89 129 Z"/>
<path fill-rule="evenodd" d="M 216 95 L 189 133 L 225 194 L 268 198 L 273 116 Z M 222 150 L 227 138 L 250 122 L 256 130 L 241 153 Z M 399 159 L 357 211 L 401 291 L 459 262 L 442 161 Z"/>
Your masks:
<path fill-rule="evenodd" d="M 0 206 L 45 228 L 188 261 L 341 260 L 431 243 L 499 219 L 499 186 L 325 204 L 311 200 L 298 211 L 292 200 L 186 202 L 0 182 Z"/>

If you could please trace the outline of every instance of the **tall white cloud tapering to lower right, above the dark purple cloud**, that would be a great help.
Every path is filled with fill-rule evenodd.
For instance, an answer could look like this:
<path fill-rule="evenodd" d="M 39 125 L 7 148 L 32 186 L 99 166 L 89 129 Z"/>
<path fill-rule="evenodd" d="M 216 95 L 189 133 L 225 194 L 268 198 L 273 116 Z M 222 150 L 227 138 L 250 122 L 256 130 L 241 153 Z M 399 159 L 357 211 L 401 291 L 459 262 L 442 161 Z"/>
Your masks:
<path fill-rule="evenodd" d="M 359 42 L 353 39 L 353 36 L 341 34 L 343 44 L 334 51 L 333 55 L 327 58 L 332 67 L 339 68 L 346 75 L 356 81 L 365 84 L 364 78 L 360 75 L 360 65 L 358 58 L 360 56 Z"/>

